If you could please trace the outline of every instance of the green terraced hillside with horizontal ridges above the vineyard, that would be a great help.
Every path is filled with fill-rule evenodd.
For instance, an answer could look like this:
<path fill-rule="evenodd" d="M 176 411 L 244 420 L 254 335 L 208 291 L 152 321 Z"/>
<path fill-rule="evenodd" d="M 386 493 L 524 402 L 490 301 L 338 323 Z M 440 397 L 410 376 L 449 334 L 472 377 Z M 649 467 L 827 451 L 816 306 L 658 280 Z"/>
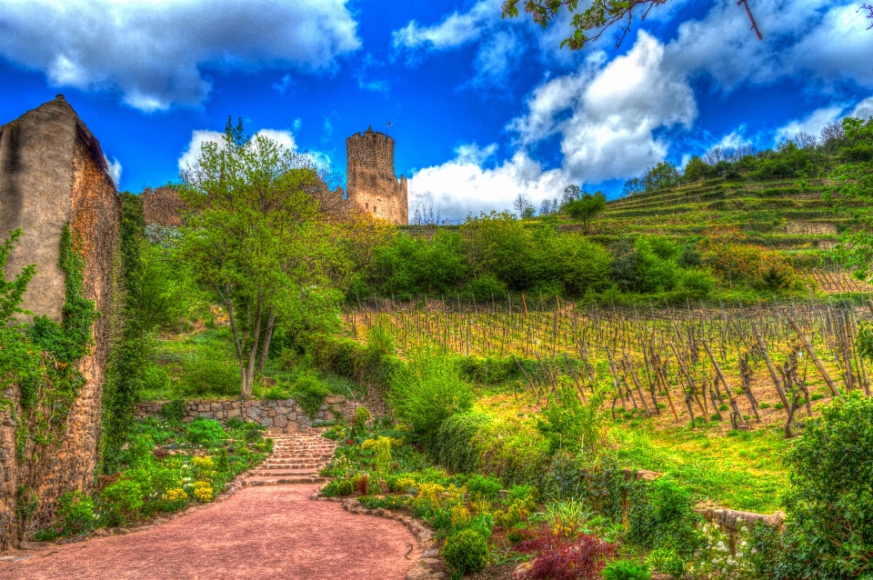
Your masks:
<path fill-rule="evenodd" d="M 647 192 L 611 201 L 591 235 L 610 244 L 623 235 L 677 238 L 731 231 L 754 245 L 788 253 L 818 255 L 837 244 L 856 223 L 851 209 L 835 212 L 824 198 L 824 183 L 797 180 L 697 184 Z M 565 224 L 564 229 L 579 225 Z"/>

